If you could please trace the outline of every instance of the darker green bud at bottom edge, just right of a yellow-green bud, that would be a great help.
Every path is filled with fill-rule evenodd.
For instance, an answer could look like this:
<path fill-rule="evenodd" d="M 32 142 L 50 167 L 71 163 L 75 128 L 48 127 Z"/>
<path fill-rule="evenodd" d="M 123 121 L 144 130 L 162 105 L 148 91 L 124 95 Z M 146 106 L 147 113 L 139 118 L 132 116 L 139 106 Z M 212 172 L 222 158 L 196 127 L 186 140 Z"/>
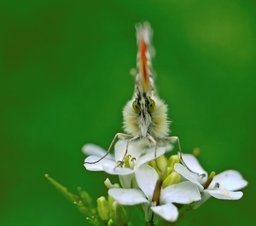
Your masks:
<path fill-rule="evenodd" d="M 111 207 L 111 219 L 115 226 L 125 226 L 129 222 L 129 211 L 125 206 L 119 205 L 116 201 L 113 202 Z"/>

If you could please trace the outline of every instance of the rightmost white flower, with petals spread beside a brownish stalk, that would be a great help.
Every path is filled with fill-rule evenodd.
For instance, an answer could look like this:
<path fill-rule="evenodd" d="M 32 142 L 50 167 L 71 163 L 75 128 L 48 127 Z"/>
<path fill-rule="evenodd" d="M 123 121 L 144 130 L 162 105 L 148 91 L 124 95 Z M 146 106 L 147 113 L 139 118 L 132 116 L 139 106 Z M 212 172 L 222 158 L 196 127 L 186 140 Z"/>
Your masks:
<path fill-rule="evenodd" d="M 246 187 L 247 181 L 241 177 L 238 171 L 224 171 L 216 176 L 213 174 L 212 178 L 212 176 L 207 177 L 207 172 L 203 170 L 193 154 L 183 154 L 183 161 L 190 171 L 181 164 L 174 165 L 174 169 L 182 177 L 198 186 L 202 199 L 195 204 L 195 208 L 201 206 L 210 197 L 220 200 L 239 200 L 241 198 L 242 192 L 237 190 Z"/>

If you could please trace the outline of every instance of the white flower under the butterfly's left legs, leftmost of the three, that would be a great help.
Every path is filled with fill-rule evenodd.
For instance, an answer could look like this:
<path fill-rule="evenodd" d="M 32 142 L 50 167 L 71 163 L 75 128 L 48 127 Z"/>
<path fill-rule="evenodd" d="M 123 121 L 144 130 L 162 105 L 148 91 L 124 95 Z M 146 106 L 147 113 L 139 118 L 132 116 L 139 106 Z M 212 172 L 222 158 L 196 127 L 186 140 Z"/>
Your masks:
<path fill-rule="evenodd" d="M 125 155 L 127 141 L 119 140 L 114 146 L 114 157 L 108 154 L 104 159 L 97 163 L 107 152 L 94 144 L 86 144 L 82 148 L 84 154 L 90 155 L 84 160 L 84 167 L 88 171 L 105 171 L 108 174 L 119 175 L 119 180 L 123 188 L 131 188 L 131 181 L 134 171 L 144 163 L 155 158 L 154 148 L 142 149 L 137 147 L 136 143 L 131 142 L 128 147 L 128 153 Z M 168 147 L 170 148 L 170 147 Z M 166 148 L 157 148 L 156 157 L 166 153 Z M 125 162 L 119 164 L 125 157 Z M 136 184 L 133 183 L 134 186 Z"/>

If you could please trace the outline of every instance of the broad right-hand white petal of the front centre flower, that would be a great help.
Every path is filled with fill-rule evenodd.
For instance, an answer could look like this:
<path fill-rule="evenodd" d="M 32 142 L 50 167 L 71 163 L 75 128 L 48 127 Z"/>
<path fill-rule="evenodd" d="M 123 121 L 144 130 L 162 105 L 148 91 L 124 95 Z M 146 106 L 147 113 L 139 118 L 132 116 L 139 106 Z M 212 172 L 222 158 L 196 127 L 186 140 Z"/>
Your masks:
<path fill-rule="evenodd" d="M 173 184 L 163 189 L 160 196 L 160 203 L 189 204 L 198 200 L 201 200 L 201 194 L 195 183 L 191 182 Z"/>

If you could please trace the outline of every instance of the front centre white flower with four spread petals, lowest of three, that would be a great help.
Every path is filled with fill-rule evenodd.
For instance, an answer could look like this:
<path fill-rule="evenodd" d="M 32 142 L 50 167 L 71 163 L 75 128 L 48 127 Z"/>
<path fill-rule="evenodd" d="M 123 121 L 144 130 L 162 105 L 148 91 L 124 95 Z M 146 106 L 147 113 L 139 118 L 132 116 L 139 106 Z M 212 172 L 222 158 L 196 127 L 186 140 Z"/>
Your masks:
<path fill-rule="evenodd" d="M 146 220 L 149 221 L 152 212 L 166 221 L 174 222 L 178 210 L 172 203 L 189 204 L 201 200 L 201 195 L 194 183 L 183 182 L 160 189 L 159 205 L 153 201 L 154 189 L 159 176 L 149 165 L 141 165 L 135 171 L 138 188 L 110 188 L 108 194 L 121 205 L 143 204 Z"/>

